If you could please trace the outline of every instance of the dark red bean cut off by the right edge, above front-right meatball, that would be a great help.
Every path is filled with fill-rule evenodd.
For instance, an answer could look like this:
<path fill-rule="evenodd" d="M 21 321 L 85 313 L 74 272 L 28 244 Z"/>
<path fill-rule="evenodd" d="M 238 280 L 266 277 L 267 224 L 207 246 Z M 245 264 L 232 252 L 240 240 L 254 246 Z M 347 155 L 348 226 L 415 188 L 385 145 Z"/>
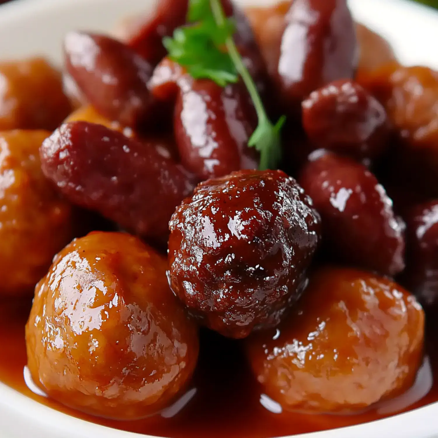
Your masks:
<path fill-rule="evenodd" d="M 425 307 L 438 298 L 438 201 L 417 205 L 406 215 L 406 271 L 403 283 Z"/>

